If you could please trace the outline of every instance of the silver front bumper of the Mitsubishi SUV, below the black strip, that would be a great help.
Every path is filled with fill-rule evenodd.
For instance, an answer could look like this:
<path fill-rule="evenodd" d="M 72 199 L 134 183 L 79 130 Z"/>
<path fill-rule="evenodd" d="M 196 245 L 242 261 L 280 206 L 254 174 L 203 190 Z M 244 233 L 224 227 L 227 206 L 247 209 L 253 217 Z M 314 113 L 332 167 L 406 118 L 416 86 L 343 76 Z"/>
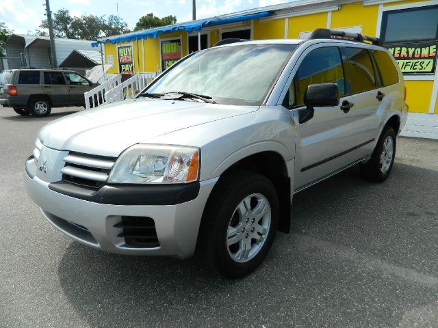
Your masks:
<path fill-rule="evenodd" d="M 116 254 L 166 255 L 188 258 L 194 253 L 201 217 L 207 198 L 218 178 L 200 183 L 194 200 L 173 205 L 99 204 L 70 197 L 49 189 L 32 174 L 33 159 L 26 162 L 27 194 L 38 204 L 44 217 L 57 230 L 90 247 Z M 150 217 L 155 222 L 159 246 L 146 248 L 128 245 L 114 227 L 122 217 Z"/>

